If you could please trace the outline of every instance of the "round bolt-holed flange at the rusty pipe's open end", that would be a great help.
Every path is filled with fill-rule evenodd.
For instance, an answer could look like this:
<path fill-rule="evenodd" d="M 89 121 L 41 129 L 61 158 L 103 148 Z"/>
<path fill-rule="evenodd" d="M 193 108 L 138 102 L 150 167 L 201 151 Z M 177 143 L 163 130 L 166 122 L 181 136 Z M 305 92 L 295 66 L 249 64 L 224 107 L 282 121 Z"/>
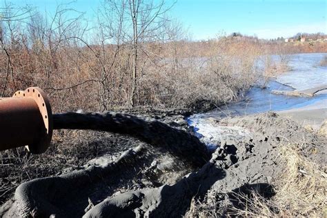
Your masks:
<path fill-rule="evenodd" d="M 35 103 L 37 103 L 39 112 L 43 119 L 44 128 L 40 131 L 38 141 L 26 146 L 26 148 L 33 154 L 45 152 L 50 146 L 53 130 L 52 111 L 46 93 L 39 87 L 30 87 L 25 91 L 19 90 L 15 92 L 13 97 L 30 97 L 35 101 Z"/>

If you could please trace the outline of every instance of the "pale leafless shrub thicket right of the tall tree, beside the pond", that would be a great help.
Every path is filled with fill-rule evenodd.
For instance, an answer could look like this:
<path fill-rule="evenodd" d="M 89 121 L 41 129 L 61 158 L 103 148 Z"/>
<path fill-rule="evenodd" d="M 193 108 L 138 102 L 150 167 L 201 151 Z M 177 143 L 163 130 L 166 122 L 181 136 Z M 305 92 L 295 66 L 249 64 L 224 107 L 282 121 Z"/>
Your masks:
<path fill-rule="evenodd" d="M 208 43 L 211 50 L 205 57 L 194 57 L 192 50 L 184 50 L 187 57 L 177 54 L 159 62 L 161 66 L 150 72 L 145 83 L 155 95 L 153 103 L 177 107 L 201 102 L 217 105 L 238 99 L 257 81 L 257 46 L 231 39 Z"/>

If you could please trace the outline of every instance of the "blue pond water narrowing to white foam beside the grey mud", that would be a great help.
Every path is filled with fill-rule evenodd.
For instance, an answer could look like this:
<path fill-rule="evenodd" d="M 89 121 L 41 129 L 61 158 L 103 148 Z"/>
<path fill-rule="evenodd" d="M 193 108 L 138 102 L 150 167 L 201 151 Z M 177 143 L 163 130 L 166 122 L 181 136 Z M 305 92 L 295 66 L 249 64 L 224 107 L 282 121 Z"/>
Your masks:
<path fill-rule="evenodd" d="M 197 137 L 210 146 L 208 138 L 214 138 L 217 126 L 212 126 L 212 119 L 228 116 L 252 115 L 260 112 L 301 108 L 327 99 L 326 92 L 315 97 L 292 97 L 275 95 L 273 90 L 304 90 L 327 83 L 327 68 L 319 66 L 319 62 L 327 54 L 292 54 L 290 56 L 290 72 L 268 81 L 266 88 L 251 88 L 242 101 L 229 103 L 210 112 L 188 117 L 188 125 L 195 130 Z M 327 108 L 327 106 L 326 106 Z M 216 130 L 213 130 L 216 128 Z"/>

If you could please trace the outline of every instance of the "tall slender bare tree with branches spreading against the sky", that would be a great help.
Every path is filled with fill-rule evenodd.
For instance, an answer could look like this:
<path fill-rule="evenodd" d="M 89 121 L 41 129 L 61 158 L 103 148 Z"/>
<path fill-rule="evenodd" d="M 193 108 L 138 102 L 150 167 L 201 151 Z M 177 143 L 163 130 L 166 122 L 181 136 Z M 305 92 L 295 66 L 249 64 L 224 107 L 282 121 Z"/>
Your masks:
<path fill-rule="evenodd" d="M 106 22 L 102 26 L 110 28 L 113 43 L 128 44 L 131 51 L 131 82 L 128 106 L 134 106 L 137 96 L 140 52 L 148 56 L 146 44 L 167 39 L 165 14 L 170 10 L 165 1 L 106 0 L 103 3 Z M 119 33 L 119 34 L 115 34 Z M 113 37 L 115 35 L 115 37 Z"/>

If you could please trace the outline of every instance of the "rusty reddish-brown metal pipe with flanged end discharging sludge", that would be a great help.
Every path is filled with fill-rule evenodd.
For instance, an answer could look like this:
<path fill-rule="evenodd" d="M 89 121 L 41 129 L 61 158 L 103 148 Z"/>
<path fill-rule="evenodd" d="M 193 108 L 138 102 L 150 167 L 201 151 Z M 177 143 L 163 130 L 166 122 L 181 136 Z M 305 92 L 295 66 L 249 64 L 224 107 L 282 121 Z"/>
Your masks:
<path fill-rule="evenodd" d="M 0 150 L 26 146 L 34 154 L 44 152 L 52 137 L 50 101 L 40 88 L 17 91 L 0 98 Z"/>

